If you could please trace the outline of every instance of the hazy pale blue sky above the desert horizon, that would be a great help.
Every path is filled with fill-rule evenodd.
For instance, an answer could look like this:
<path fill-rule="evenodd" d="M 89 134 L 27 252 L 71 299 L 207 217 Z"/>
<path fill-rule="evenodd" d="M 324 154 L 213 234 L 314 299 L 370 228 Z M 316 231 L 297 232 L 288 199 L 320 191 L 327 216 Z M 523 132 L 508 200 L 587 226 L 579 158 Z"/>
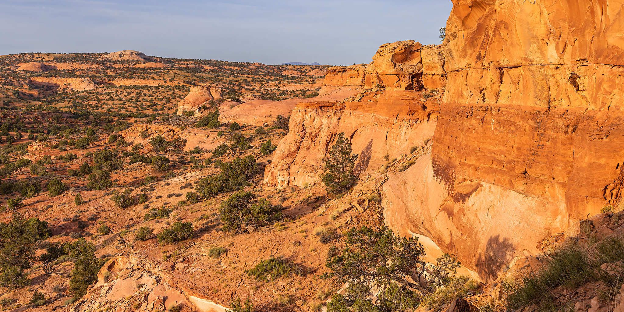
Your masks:
<path fill-rule="evenodd" d="M 451 8 L 451 0 L 0 0 L 0 55 L 128 49 L 351 65 L 388 42 L 439 44 Z"/>

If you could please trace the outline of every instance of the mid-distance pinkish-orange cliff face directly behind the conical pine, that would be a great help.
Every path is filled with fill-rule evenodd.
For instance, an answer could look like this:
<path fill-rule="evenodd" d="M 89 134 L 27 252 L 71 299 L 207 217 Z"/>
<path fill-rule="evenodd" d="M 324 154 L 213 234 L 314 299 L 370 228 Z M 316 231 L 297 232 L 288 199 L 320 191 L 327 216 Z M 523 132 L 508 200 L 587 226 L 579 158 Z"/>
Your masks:
<path fill-rule="evenodd" d="M 316 182 L 323 158 L 340 132 L 359 154 L 356 173 L 377 170 L 384 155 L 407 154 L 416 142 L 422 145 L 433 134 L 437 104 L 420 99 L 413 91 L 373 89 L 343 102 L 298 104 L 290 131 L 265 168 L 264 182 L 270 187 Z"/>

